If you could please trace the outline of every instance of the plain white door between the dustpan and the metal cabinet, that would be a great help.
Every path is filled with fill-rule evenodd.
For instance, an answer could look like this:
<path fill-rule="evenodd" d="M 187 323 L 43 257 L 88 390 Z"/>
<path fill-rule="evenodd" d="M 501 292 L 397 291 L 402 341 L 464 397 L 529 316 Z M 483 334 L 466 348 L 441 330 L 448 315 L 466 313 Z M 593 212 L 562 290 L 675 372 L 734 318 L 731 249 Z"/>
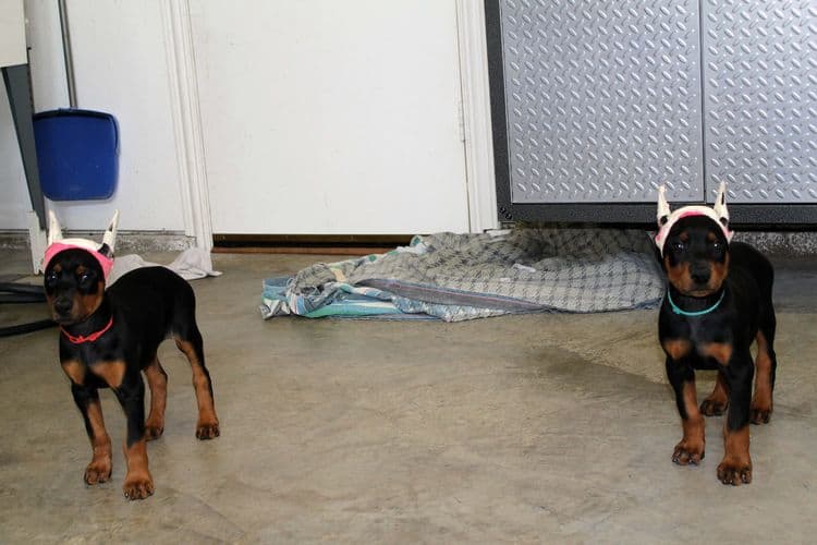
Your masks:
<path fill-rule="evenodd" d="M 215 233 L 468 230 L 454 0 L 190 5 Z"/>

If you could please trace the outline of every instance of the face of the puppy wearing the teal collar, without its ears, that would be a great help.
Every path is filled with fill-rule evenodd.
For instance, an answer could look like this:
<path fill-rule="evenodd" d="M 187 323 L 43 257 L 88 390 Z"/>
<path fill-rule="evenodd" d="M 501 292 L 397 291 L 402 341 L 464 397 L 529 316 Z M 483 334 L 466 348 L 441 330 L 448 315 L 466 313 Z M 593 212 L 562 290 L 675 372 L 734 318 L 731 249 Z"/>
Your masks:
<path fill-rule="evenodd" d="M 682 294 L 710 295 L 729 274 L 729 239 L 708 216 L 683 217 L 667 234 L 662 264 L 670 283 Z"/>

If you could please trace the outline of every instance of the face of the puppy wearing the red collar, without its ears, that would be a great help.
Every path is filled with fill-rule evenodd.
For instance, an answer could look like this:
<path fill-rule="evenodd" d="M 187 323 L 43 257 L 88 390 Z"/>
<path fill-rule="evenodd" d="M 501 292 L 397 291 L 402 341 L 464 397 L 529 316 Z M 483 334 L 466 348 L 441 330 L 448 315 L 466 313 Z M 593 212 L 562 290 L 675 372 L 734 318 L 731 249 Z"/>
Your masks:
<path fill-rule="evenodd" d="M 87 319 L 102 303 L 105 272 L 89 251 L 63 250 L 46 266 L 45 288 L 53 320 L 61 325 L 76 324 Z"/>

